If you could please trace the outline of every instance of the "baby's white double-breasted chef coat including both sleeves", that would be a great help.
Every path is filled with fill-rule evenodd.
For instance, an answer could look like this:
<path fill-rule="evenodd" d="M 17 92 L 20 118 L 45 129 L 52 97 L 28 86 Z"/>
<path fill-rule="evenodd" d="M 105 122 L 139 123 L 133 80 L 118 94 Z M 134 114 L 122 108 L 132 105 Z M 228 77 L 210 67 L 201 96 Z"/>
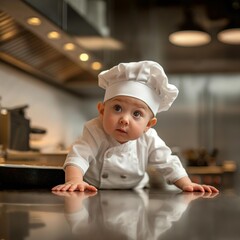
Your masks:
<path fill-rule="evenodd" d="M 99 189 L 131 189 L 147 185 L 148 164 L 159 170 L 168 183 L 187 176 L 179 158 L 171 155 L 155 129 L 120 144 L 105 133 L 101 120 L 95 118 L 85 124 L 63 167 L 78 167 L 84 180 Z"/>

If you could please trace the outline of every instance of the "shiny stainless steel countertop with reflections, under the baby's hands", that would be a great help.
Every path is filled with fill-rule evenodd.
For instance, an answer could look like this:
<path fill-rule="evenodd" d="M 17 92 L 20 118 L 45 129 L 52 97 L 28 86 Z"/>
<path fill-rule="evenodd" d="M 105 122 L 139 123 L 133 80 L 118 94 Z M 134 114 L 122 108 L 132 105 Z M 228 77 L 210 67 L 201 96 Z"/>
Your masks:
<path fill-rule="evenodd" d="M 239 239 L 240 196 L 179 191 L 0 191 L 0 239 Z"/>

